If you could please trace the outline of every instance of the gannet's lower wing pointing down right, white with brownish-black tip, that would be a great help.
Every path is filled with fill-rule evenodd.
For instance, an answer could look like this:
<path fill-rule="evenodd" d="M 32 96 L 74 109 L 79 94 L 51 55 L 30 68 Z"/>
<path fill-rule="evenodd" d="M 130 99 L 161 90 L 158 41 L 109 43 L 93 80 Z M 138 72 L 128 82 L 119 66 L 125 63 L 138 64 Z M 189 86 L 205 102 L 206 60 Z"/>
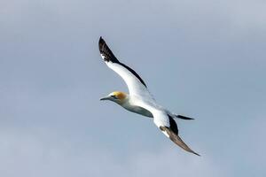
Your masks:
<path fill-rule="evenodd" d="M 166 135 L 172 142 L 175 142 L 176 145 L 181 147 L 183 150 L 191 152 L 200 156 L 200 154 L 194 152 L 188 145 L 183 142 L 183 140 L 178 135 L 178 128 L 176 125 L 175 119 L 170 117 L 167 112 L 163 109 L 158 109 L 153 107 L 153 105 L 149 105 L 146 103 L 138 103 L 141 107 L 144 107 L 149 112 L 153 114 L 153 122 L 154 124 L 160 128 L 160 131 Z"/>

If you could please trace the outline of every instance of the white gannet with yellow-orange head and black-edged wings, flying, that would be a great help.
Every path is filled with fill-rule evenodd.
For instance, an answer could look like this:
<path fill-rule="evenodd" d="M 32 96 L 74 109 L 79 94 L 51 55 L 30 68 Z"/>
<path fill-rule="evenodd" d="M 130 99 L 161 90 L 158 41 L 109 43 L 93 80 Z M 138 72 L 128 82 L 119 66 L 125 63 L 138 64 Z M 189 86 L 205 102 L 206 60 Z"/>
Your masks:
<path fill-rule="evenodd" d="M 129 112 L 135 112 L 145 117 L 153 118 L 154 124 L 159 127 L 160 131 L 172 142 L 175 142 L 182 149 L 200 156 L 200 154 L 190 149 L 179 137 L 175 121 L 175 118 L 192 118 L 176 115 L 175 113 L 169 112 L 159 104 L 156 104 L 153 96 L 148 91 L 145 82 L 133 69 L 131 69 L 128 65 L 121 63 L 114 57 L 112 50 L 110 50 L 102 37 L 99 38 L 98 48 L 106 65 L 121 76 L 129 89 L 129 94 L 121 91 L 114 91 L 100 100 L 113 101 L 114 103 L 121 105 Z"/>

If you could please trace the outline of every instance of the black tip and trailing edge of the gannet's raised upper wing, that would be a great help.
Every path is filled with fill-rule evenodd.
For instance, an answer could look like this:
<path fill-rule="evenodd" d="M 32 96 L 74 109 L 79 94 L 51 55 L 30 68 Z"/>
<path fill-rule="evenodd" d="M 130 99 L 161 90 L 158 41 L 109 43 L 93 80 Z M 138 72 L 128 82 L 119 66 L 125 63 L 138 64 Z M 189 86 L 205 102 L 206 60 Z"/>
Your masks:
<path fill-rule="evenodd" d="M 137 79 L 145 86 L 145 88 L 147 87 L 145 82 L 133 69 L 131 69 L 128 65 L 122 64 L 117 58 L 114 57 L 112 50 L 110 50 L 110 48 L 107 46 L 105 40 L 102 37 L 99 38 L 98 49 L 106 62 L 111 61 L 112 63 L 122 65 L 123 67 L 128 69 L 130 73 L 133 73 L 137 77 Z"/>

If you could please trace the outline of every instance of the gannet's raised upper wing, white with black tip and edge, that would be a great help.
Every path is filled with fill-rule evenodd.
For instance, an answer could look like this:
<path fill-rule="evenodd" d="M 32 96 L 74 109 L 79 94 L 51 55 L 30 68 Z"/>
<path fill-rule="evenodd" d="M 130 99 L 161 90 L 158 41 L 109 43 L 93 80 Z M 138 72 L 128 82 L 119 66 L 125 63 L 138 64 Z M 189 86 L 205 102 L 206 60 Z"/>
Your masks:
<path fill-rule="evenodd" d="M 112 50 L 109 49 L 102 37 L 99 39 L 98 48 L 101 57 L 106 62 L 106 65 L 115 73 L 118 73 L 126 82 L 130 95 L 141 97 L 144 96 L 146 99 L 149 98 L 153 100 L 153 96 L 151 96 L 150 92 L 148 91 L 145 82 L 133 69 L 131 69 L 128 65 L 122 64 L 117 58 L 114 57 Z"/>

